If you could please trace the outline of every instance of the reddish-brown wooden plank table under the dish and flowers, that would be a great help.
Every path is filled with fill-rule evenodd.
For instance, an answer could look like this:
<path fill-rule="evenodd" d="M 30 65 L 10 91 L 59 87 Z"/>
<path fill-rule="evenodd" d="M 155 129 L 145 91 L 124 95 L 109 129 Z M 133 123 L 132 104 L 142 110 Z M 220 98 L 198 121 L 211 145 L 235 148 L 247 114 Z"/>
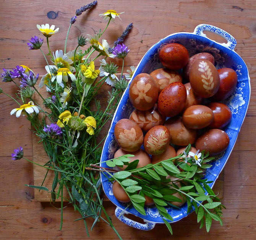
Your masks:
<path fill-rule="evenodd" d="M 1 1 L 0 67 L 11 69 L 18 64 L 29 66 L 40 75 L 45 74 L 44 58 L 39 51 L 29 51 L 27 40 L 39 35 L 36 24 L 55 24 L 60 31 L 50 38 L 53 50 L 63 48 L 66 30 L 75 10 L 89 2 L 57 0 L 8 0 Z M 213 222 L 207 234 L 199 229 L 196 215 L 172 224 L 173 236 L 163 225 L 150 232 L 126 226 L 114 216 L 115 206 L 106 203 L 107 212 L 123 239 L 256 239 L 256 178 L 255 178 L 255 134 L 256 134 L 256 2 L 254 0 L 232 1 L 99 1 L 96 8 L 78 17 L 70 31 L 68 50 L 75 49 L 80 34 L 94 34 L 105 21 L 99 18 L 105 10 L 114 9 L 121 15 L 111 23 L 105 38 L 110 45 L 122 34 L 125 27 L 133 22 L 134 27 L 125 41 L 131 49 L 126 58 L 128 66 L 137 65 L 144 53 L 161 38 L 175 32 L 193 32 L 201 23 L 220 27 L 237 40 L 235 50 L 244 59 L 251 77 L 251 101 L 233 152 L 225 166 L 223 227 Z M 212 39 L 223 39 L 208 34 Z M 41 34 L 40 34 L 41 36 Z M 47 52 L 44 43 L 42 50 Z M 120 66 L 121 62 L 117 61 Z M 99 62 L 97 62 L 99 66 Z M 12 83 L 0 83 L 0 87 L 11 96 L 17 90 Z M 73 208 L 64 210 L 63 228 L 60 231 L 60 210 L 47 203 L 34 200 L 34 190 L 24 186 L 33 184 L 33 166 L 25 160 L 11 160 L 13 149 L 23 146 L 24 155 L 32 159 L 30 123 L 24 117 L 10 116 L 16 104 L 5 95 L 0 95 L 0 239 L 84 239 L 86 232 L 83 222 L 73 222 L 79 214 Z M 92 224 L 92 221 L 88 221 Z M 91 239 L 117 239 L 111 227 L 100 222 L 90 233 Z"/>

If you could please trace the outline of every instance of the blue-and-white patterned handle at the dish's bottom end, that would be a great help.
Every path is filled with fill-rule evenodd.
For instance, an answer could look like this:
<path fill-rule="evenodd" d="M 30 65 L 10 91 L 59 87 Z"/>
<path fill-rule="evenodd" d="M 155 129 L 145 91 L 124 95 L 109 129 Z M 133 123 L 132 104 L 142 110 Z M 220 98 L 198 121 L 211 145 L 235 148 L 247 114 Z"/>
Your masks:
<path fill-rule="evenodd" d="M 130 214 L 125 210 L 122 210 L 121 208 L 116 208 L 115 209 L 115 216 L 117 216 L 117 218 L 122 221 L 123 223 L 125 223 L 128 226 L 134 227 L 136 229 L 140 229 L 140 230 L 151 230 L 155 227 L 155 223 L 154 222 L 149 222 L 145 219 L 143 219 L 143 221 L 145 222 L 145 224 L 142 224 L 140 222 L 136 222 L 134 220 L 131 220 L 130 218 L 127 218 L 126 216 L 124 216 L 124 214 Z"/>

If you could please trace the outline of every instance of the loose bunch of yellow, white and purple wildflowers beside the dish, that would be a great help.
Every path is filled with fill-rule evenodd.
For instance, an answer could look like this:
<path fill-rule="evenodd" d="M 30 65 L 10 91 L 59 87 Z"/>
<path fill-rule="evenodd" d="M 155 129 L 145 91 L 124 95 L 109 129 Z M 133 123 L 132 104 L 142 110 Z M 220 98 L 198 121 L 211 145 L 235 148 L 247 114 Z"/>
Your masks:
<path fill-rule="evenodd" d="M 16 66 L 12 70 L 3 69 L 2 81 L 16 84 L 19 90 L 16 98 L 13 98 L 0 89 L 0 93 L 6 94 L 17 104 L 10 114 L 16 114 L 16 117 L 26 116 L 31 122 L 32 131 L 40 137 L 40 142 L 43 143 L 49 156 L 49 160 L 42 167 L 47 169 L 47 173 L 55 172 L 52 190 L 43 186 L 44 181 L 41 186 L 28 186 L 51 192 L 53 203 L 56 198 L 61 198 L 60 229 L 63 222 L 63 199 L 65 198 L 63 189 L 66 189 L 69 199 L 65 200 L 72 203 L 74 209 L 81 214 L 79 220 L 84 221 L 88 236 L 87 217 L 95 219 L 91 229 L 99 219 L 102 219 L 117 233 L 102 205 L 100 177 L 92 171 L 87 171 L 86 167 L 100 161 L 100 144 L 105 138 L 97 139 L 97 136 L 104 125 L 111 120 L 122 93 L 128 85 L 126 79 L 131 77 L 130 74 L 133 73 L 131 71 L 134 70 L 133 67 L 130 74 L 126 75 L 126 79 L 122 77 L 124 59 L 130 51 L 122 42 L 131 30 L 132 24 L 128 25 L 122 36 L 114 43 L 113 48 L 110 48 L 107 40 L 100 41 L 110 22 L 116 17 L 120 18 L 121 13 L 114 10 L 100 14 L 100 17 L 104 17 L 108 21 L 103 31 L 99 30 L 94 36 L 88 34 L 87 37 L 79 36 L 75 50 L 66 53 L 71 26 L 76 22 L 78 16 L 96 4 L 97 1 L 94 1 L 76 10 L 76 15 L 70 20 L 64 51 L 56 50 L 54 53 L 49 46 L 49 38 L 57 34 L 59 28 L 49 24 L 37 25 L 39 31 L 46 38 L 49 50 L 48 58 L 41 49 L 45 38 L 34 36 L 29 40 L 28 46 L 29 50 L 39 50 L 43 54 L 47 63 L 46 74 L 39 77 L 39 74 L 36 75 L 24 65 Z M 88 45 L 89 47 L 86 47 Z M 91 59 L 94 52 L 97 52 L 97 56 Z M 102 56 L 100 67 L 96 69 L 94 61 Z M 107 58 L 123 60 L 120 79 L 116 75 L 117 65 L 107 62 Z M 96 81 L 98 76 L 102 78 Z M 39 78 L 41 81 L 37 84 Z M 17 79 L 20 84 L 15 81 Z M 112 90 L 109 92 L 107 107 L 103 110 L 100 101 L 96 100 L 95 96 L 104 84 L 111 85 Z M 37 86 L 45 88 L 50 94 L 49 97 L 44 98 L 41 94 L 42 91 L 39 91 Z M 36 94 L 42 98 L 43 105 L 40 106 L 40 103 L 36 101 Z M 14 150 L 12 159 L 19 160 L 21 158 L 24 158 L 23 148 L 19 147 Z M 26 160 L 32 162 L 29 159 Z M 35 162 L 34 164 L 39 165 Z M 58 191 L 56 190 L 57 186 Z M 102 212 L 106 218 L 101 216 Z M 117 235 L 121 238 L 118 233 Z"/>

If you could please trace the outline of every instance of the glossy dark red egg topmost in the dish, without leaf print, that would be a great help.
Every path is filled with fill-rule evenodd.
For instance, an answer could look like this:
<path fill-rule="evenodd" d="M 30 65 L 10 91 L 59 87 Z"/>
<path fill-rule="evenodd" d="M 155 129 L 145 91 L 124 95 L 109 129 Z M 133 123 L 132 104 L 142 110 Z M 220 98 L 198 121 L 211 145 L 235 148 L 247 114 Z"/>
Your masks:
<path fill-rule="evenodd" d="M 164 67 L 178 70 L 186 66 L 189 54 L 185 46 L 178 43 L 168 43 L 160 49 L 159 59 Z"/>

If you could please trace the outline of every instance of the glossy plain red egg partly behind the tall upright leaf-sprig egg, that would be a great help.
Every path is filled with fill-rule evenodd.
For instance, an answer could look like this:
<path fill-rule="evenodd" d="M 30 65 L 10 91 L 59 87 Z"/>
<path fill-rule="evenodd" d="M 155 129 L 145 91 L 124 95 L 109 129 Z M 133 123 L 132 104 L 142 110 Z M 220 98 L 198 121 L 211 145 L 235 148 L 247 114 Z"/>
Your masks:
<path fill-rule="evenodd" d="M 217 93 L 210 99 L 212 101 L 222 101 L 227 99 L 237 86 L 237 73 L 231 68 L 217 70 L 220 76 L 220 87 Z"/>

